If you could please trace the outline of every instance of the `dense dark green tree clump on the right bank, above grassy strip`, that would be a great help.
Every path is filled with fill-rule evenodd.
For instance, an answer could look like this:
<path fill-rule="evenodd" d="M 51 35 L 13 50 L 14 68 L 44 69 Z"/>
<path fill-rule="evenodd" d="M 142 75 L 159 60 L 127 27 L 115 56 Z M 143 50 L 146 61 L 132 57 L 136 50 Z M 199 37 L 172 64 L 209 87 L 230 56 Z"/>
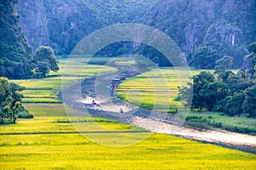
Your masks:
<path fill-rule="evenodd" d="M 255 42 L 248 46 L 253 59 L 249 61 L 247 69 L 242 69 L 237 74 L 229 70 L 232 57 L 224 56 L 216 61 L 214 74 L 202 71 L 193 76 L 193 82 L 189 82 L 188 87 L 180 88 L 180 97 L 185 99 L 184 105 L 189 106 L 192 111 L 223 111 L 229 116 L 255 118 L 255 47 Z"/>

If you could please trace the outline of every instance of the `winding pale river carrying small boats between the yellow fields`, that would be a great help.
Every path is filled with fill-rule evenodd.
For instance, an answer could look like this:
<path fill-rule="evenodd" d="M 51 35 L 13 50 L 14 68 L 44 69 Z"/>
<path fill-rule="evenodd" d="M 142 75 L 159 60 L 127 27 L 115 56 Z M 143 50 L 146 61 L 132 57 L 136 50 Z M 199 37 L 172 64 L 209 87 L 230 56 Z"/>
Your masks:
<path fill-rule="evenodd" d="M 117 65 L 115 65 L 117 66 Z M 127 68 L 126 68 L 127 70 Z M 137 75 L 137 71 L 127 71 L 122 73 L 122 76 L 133 77 Z M 102 88 L 106 86 L 105 80 L 112 78 L 109 75 L 102 75 L 101 83 Z M 97 77 L 98 78 L 98 77 Z M 166 122 L 166 117 L 152 117 L 150 116 L 151 111 L 146 111 L 137 106 L 130 105 L 124 101 L 117 99 L 116 97 L 109 97 L 108 95 L 96 95 L 96 77 L 90 77 L 84 79 L 82 83 L 73 84 L 71 87 L 65 89 L 65 94 L 68 93 L 68 100 L 65 102 L 66 105 L 75 109 L 84 111 L 84 107 L 90 113 L 91 116 L 103 116 L 106 118 L 111 118 L 119 122 L 125 122 L 137 127 L 144 127 L 155 133 L 167 133 L 172 135 L 177 135 L 185 139 L 193 139 L 196 141 L 201 141 L 205 143 L 218 144 L 224 147 L 247 151 L 251 153 L 256 153 L 256 137 L 241 133 L 230 133 L 224 130 L 199 130 L 191 127 L 177 127 L 173 122 Z M 100 83 L 100 84 L 101 84 Z M 82 92 L 78 91 L 78 86 L 82 85 Z M 106 88 L 108 89 L 108 88 Z M 105 91 L 106 91 L 105 89 Z M 79 98 L 78 94 L 82 93 L 82 98 Z M 108 94 L 108 93 L 107 93 Z M 61 93 L 58 95 L 61 98 Z M 92 107 L 91 100 L 96 99 L 100 105 Z M 131 111 L 131 115 L 121 116 L 119 114 L 119 108 L 122 108 L 125 112 Z M 136 110 L 134 113 L 133 110 Z M 149 118 L 150 117 L 150 118 Z"/>

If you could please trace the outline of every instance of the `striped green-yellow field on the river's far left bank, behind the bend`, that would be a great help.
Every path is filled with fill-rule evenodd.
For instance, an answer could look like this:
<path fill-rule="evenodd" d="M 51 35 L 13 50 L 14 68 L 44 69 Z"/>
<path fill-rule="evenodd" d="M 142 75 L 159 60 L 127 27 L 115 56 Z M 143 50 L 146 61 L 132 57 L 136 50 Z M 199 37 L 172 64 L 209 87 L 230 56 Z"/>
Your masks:
<path fill-rule="evenodd" d="M 106 62 L 109 58 L 95 58 L 93 62 Z M 88 58 L 58 59 L 60 70 L 50 72 L 48 77 L 42 79 L 11 80 L 26 88 L 22 92 L 25 99 L 22 103 L 61 103 L 56 99 L 57 91 L 67 88 L 73 82 L 77 82 L 84 77 L 95 76 L 99 73 L 115 71 L 113 67 L 105 65 L 88 65 Z"/>

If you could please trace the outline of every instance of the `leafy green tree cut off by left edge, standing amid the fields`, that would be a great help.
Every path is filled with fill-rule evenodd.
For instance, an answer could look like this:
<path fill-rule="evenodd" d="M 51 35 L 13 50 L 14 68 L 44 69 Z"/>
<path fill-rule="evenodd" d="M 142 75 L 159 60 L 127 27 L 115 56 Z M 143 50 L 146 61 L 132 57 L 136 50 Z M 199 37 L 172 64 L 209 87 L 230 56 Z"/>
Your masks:
<path fill-rule="evenodd" d="M 7 78 L 0 77 L 0 124 L 4 120 L 16 122 L 18 114 L 26 109 L 20 104 L 23 97 L 19 92 L 24 89 L 18 84 L 9 82 Z"/>

